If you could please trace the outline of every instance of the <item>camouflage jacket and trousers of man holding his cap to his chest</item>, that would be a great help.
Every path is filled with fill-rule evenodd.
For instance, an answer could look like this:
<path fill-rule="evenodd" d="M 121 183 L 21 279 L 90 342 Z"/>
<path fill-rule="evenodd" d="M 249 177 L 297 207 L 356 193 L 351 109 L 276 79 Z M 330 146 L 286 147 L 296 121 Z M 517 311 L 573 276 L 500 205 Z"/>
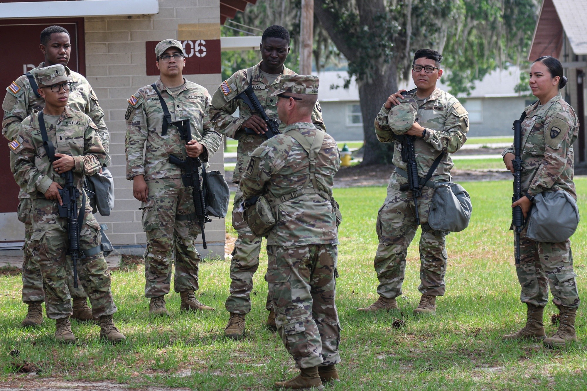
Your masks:
<path fill-rule="evenodd" d="M 383 143 L 394 141 L 393 133 L 402 134 L 411 125 L 401 115 L 388 120 L 390 111 L 383 106 L 375 119 L 377 139 Z M 411 117 L 411 113 L 406 112 Z M 411 117 L 413 124 L 413 117 Z M 409 121 L 410 122 L 410 121 Z M 449 153 L 455 153 L 467 140 L 468 114 L 456 97 L 443 90 L 436 89 L 420 103 L 416 113 L 416 122 L 426 127 L 424 138 L 415 137 L 416 163 L 418 175 L 426 177 L 430 166 L 438 154 L 446 151 L 431 178 L 432 181 L 449 181 L 450 170 L 454 164 Z M 402 129 L 399 131 L 399 129 Z M 406 170 L 402 161 L 402 144 L 396 142 L 393 164 Z M 408 183 L 407 178 L 394 171 L 387 186 L 387 198 L 377 214 L 377 237 L 379 245 L 375 255 L 375 271 L 379 279 L 377 294 L 383 298 L 396 298 L 402 294 L 402 283 L 406 269 L 407 248 L 416 234 L 414 203 L 411 191 L 400 190 Z M 434 190 L 422 188 L 418 198 L 420 225 L 420 281 L 418 290 L 423 295 L 444 295 L 444 274 L 447 265 L 446 241 L 444 234 L 431 230 L 428 223 L 431 199 Z"/>

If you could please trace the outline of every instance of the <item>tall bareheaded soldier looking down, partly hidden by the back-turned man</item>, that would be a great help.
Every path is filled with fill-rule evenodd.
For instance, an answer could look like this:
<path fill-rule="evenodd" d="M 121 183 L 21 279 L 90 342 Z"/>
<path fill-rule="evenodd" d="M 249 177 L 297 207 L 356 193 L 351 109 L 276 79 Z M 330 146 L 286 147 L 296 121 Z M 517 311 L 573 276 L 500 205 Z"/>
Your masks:
<path fill-rule="evenodd" d="M 266 124 L 257 114 L 251 115 L 251 109 L 242 102 L 234 99 L 239 93 L 252 85 L 255 95 L 265 109 L 269 118 L 277 117 L 277 99 L 271 94 L 279 85 L 279 80 L 284 75 L 295 75 L 292 70 L 285 68 L 284 62 L 289 53 L 289 33 L 282 26 L 269 26 L 263 32 L 261 38 L 262 61 L 249 69 L 241 69 L 228 80 L 222 82 L 212 97 L 210 117 L 215 129 L 238 140 L 237 166 L 234 168 L 232 181 L 239 183 L 242 173 L 247 167 L 249 154 L 257 149 L 266 139 L 262 136 Z M 239 117 L 233 117 L 237 108 Z M 318 102 L 312 112 L 312 123 L 322 130 L 326 130 L 322 122 L 322 109 Z M 257 134 L 246 134 L 245 127 L 254 129 Z M 279 130 L 285 125 L 280 124 Z M 242 192 L 237 188 L 234 197 L 234 205 L 242 201 Z M 238 232 L 237 241 L 232 251 L 230 267 L 230 296 L 226 301 L 226 309 L 230 312 L 230 319 L 225 329 L 225 335 L 230 338 L 242 338 L 245 330 L 245 315 L 251 311 L 251 291 L 253 288 L 252 278 L 259 267 L 259 252 L 261 251 L 261 239 L 256 237 L 247 223 L 238 212 L 238 207 L 232 211 L 232 227 Z M 275 328 L 275 315 L 271 308 L 271 296 L 267 296 L 266 309 L 269 312 L 267 325 L 270 329 Z"/>

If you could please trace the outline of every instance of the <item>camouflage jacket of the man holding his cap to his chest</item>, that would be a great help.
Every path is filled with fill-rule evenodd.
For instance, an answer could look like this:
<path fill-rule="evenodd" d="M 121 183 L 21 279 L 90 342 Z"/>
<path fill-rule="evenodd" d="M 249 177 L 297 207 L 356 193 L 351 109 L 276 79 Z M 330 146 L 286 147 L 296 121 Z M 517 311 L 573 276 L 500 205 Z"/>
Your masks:
<path fill-rule="evenodd" d="M 389 110 L 385 106 L 375 118 L 375 132 L 377 139 L 382 143 L 394 141 L 393 131 L 387 121 Z M 422 139 L 416 137 L 414 149 L 416 150 L 416 163 L 418 175 L 426 177 L 430 166 L 438 154 L 446 151 L 443 159 L 434 171 L 433 181 L 450 180 L 450 170 L 453 168 L 453 160 L 450 153 L 455 153 L 467 140 L 469 121 L 467 110 L 458 102 L 457 98 L 448 92 L 437 88 L 433 93 L 420 104 L 416 116 L 416 122 L 426 127 L 426 136 Z M 393 164 L 396 167 L 406 170 L 407 166 L 402 161 L 402 144 L 395 143 L 393 151 Z M 396 172 L 389 180 L 393 188 L 399 189 L 407 183 L 407 179 Z"/>

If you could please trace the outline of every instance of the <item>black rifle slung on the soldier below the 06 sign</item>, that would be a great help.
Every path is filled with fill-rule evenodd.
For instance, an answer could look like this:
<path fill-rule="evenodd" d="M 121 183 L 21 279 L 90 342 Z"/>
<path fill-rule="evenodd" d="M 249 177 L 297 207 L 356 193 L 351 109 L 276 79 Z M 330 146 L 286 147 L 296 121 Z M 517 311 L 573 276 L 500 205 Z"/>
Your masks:
<path fill-rule="evenodd" d="M 170 123 L 170 126 L 177 127 L 180 132 L 181 139 L 185 141 L 185 145 L 191 140 L 190 120 L 184 119 Z M 202 167 L 202 176 L 205 176 L 205 168 L 199 157 L 187 156 L 185 160 L 181 160 L 177 156 L 170 155 L 169 161 L 181 168 L 181 179 L 184 186 L 191 186 L 191 198 L 194 201 L 195 214 L 188 214 L 185 220 L 198 220 L 200 231 L 202 234 L 202 245 L 208 248 L 206 244 L 206 235 L 204 234 L 204 223 L 210 223 L 208 213 L 206 210 L 206 203 L 204 201 L 204 186 L 200 181 L 200 167 Z M 176 217 L 177 220 L 177 217 Z"/>

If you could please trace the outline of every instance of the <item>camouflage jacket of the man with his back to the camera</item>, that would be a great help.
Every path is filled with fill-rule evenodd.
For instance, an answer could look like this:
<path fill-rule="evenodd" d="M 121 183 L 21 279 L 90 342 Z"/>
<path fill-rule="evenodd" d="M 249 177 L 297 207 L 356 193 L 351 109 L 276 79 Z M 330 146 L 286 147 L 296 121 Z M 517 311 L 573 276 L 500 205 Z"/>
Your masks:
<path fill-rule="evenodd" d="M 313 140 L 320 132 L 311 123 L 295 123 L 284 128 L 284 133 L 295 129 Z M 333 178 L 340 166 L 335 140 L 325 134 L 322 149 L 316 161 L 316 181 L 319 190 L 332 195 Z M 299 190 L 309 182 L 308 153 L 293 137 L 278 134 L 264 141 L 251 153 L 247 170 L 242 175 L 241 188 L 245 200 L 264 194 L 268 200 Z M 312 187 L 311 182 L 306 187 Z M 269 233 L 269 245 L 336 244 L 338 232 L 336 217 L 330 204 L 319 194 L 302 194 L 276 205 L 277 224 Z"/>

